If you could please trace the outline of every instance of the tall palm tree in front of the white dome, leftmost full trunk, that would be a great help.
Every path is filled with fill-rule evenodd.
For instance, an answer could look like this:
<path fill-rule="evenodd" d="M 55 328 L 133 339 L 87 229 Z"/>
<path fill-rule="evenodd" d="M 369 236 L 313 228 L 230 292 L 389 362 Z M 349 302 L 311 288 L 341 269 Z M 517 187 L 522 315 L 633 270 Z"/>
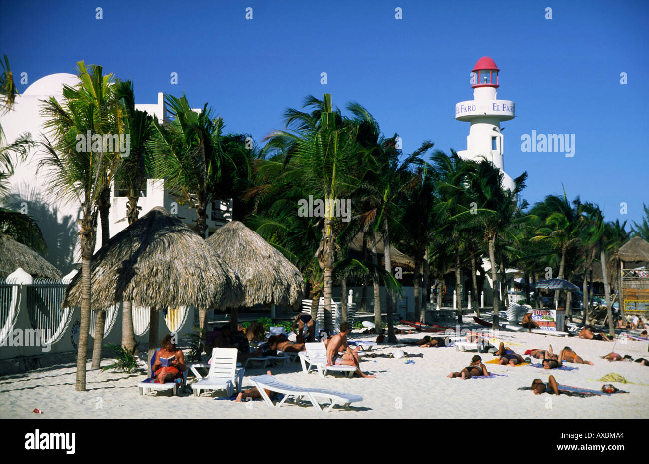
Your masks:
<path fill-rule="evenodd" d="M 97 151 L 91 143 L 80 147 L 77 136 L 85 137 L 88 130 L 95 134 L 110 133 L 111 128 L 119 124 L 116 120 L 119 112 L 116 108 L 108 108 L 116 102 L 111 97 L 114 93 L 112 74 L 104 76 L 101 66 L 93 65 L 88 69 L 84 62 L 79 62 L 77 72 L 80 83 L 75 88 L 64 86 L 62 104 L 54 97 L 43 102 L 42 114 L 47 118 L 45 128 L 50 130 L 54 141 L 45 138 L 45 158 L 39 163 L 38 169 L 47 169 L 47 187 L 50 191 L 64 195 L 67 201 L 78 201 L 81 205 L 79 235 L 83 291 L 76 389 L 85 391 L 90 330 L 90 265 L 95 248 L 97 203 L 106 180 L 106 167 L 114 159 L 114 153 Z M 101 104 L 101 107 L 97 107 L 97 104 Z M 103 339 L 104 330 L 99 317 L 95 330 L 96 347 L 97 341 Z M 95 349 L 95 353 L 101 356 L 101 347 Z"/>

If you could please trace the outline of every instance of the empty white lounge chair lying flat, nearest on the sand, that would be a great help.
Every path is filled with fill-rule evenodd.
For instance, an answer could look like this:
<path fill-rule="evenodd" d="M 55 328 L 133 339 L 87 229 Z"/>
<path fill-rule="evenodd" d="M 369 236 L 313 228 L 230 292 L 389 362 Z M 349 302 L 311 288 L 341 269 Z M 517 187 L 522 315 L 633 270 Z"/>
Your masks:
<path fill-rule="evenodd" d="M 284 398 L 282 398 L 282 400 L 277 404 L 278 408 L 280 408 L 289 397 L 293 397 L 296 402 L 300 398 L 306 397 L 313 405 L 313 408 L 317 409 L 318 411 L 322 411 L 322 408 L 318 404 L 316 398 L 325 398 L 328 402 L 330 402 L 327 411 L 331 411 L 331 409 L 336 404 L 339 404 L 344 408 L 350 403 L 363 400 L 363 397 L 361 397 L 360 395 L 352 395 L 350 393 L 343 393 L 341 391 L 326 390 L 324 388 L 295 387 L 293 385 L 279 382 L 278 380 L 276 380 L 276 378 L 269 375 L 251 377 L 250 380 L 257 387 L 259 393 L 262 395 L 263 400 L 268 406 L 275 405 L 263 389 L 282 393 L 284 395 Z"/>

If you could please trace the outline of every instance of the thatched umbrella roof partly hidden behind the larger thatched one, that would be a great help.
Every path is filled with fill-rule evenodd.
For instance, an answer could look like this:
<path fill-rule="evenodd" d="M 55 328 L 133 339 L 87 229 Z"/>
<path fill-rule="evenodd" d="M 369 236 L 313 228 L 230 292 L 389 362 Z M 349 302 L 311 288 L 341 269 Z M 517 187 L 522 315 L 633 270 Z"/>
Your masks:
<path fill-rule="evenodd" d="M 293 306 L 304 297 L 304 279 L 297 267 L 239 221 L 217 229 L 206 242 L 241 278 L 244 306 Z"/>

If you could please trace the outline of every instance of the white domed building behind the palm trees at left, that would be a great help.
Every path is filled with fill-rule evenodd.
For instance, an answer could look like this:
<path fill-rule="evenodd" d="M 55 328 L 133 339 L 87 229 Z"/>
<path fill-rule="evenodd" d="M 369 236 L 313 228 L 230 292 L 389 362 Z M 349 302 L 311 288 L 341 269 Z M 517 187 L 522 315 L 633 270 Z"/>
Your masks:
<path fill-rule="evenodd" d="M 40 115 L 42 100 L 55 97 L 62 101 L 63 85 L 76 86 L 77 76 L 57 73 L 36 80 L 16 98 L 14 110 L 2 117 L 2 127 L 6 140 L 14 141 L 20 134 L 31 132 L 34 140 L 41 140 L 45 133 L 44 119 Z M 167 122 L 167 108 L 164 94 L 158 93 L 158 103 L 136 104 L 138 110 L 145 110 L 158 118 L 160 123 Z M 201 110 L 196 110 L 201 111 Z M 16 172 L 11 178 L 12 191 L 4 206 L 27 212 L 38 221 L 43 231 L 49 250 L 47 260 L 62 273 L 67 274 L 75 263 L 80 261 L 79 225 L 80 204 L 68 201 L 62 195 L 50 193 L 46 186 L 46 171 L 37 172 L 38 162 L 43 158 L 40 149 L 34 149 L 27 161 L 16 165 Z M 128 199 L 120 196 L 120 191 L 111 192 L 110 235 L 114 236 L 128 226 L 126 204 Z M 177 212 L 178 218 L 190 226 L 196 225 L 195 210 L 178 204 L 177 200 L 165 191 L 162 179 L 149 179 L 145 190 L 141 192 L 138 206 L 144 215 L 154 206 L 164 206 L 167 210 Z M 232 219 L 232 201 L 215 201 L 207 206 L 208 230 L 213 232 L 225 221 Z M 99 221 L 98 221 L 99 222 Z M 97 225 L 97 246 L 101 245 L 101 224 Z"/>

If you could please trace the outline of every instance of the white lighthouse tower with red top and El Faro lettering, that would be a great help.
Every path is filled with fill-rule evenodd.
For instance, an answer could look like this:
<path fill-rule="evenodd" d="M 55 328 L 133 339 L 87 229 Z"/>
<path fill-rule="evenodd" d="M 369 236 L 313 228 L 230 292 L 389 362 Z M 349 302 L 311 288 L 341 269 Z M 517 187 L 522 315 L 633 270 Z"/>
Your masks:
<path fill-rule="evenodd" d="M 498 67 L 489 56 L 478 60 L 472 71 L 473 99 L 455 105 L 455 119 L 469 121 L 471 128 L 467 137 L 467 149 L 458 151 L 465 160 L 487 158 L 504 174 L 503 187 L 513 189 L 513 180 L 505 172 L 502 154 L 504 140 L 500 121 L 514 117 L 514 102 L 498 100 Z"/>

